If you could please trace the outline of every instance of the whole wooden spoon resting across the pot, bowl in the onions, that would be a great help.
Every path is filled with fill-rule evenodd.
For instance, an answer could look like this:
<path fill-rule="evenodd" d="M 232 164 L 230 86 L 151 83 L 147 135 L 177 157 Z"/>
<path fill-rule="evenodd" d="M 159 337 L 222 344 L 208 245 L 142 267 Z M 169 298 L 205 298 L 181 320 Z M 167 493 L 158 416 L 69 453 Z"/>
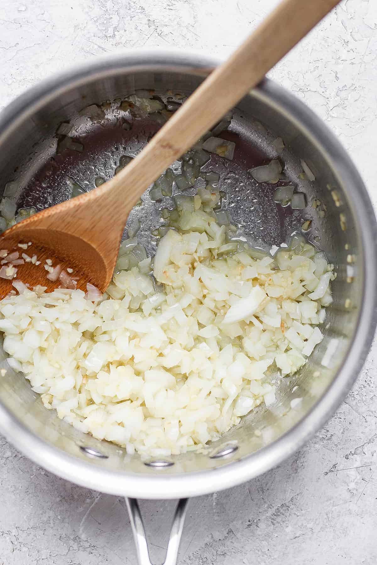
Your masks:
<path fill-rule="evenodd" d="M 71 268 L 77 288 L 91 282 L 105 292 L 114 271 L 124 225 L 141 194 L 198 138 L 219 121 L 339 0 L 284 0 L 237 51 L 207 77 L 141 153 L 113 179 L 31 216 L 3 233 L 0 249 L 16 249 L 39 265 L 19 265 L 15 277 L 52 290 L 45 259 Z M 28 244 L 25 250 L 18 244 Z M 1 254 L 1 253 L 0 253 Z M 34 259 L 35 260 L 35 259 Z M 11 280 L 0 279 L 0 295 Z"/>

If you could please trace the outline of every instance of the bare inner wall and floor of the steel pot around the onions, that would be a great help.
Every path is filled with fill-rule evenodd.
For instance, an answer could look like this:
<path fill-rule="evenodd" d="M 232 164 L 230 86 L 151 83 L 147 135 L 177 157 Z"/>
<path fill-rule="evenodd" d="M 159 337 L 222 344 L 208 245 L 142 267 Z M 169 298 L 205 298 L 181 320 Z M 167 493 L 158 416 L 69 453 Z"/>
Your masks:
<path fill-rule="evenodd" d="M 202 76 L 193 71 L 123 69 L 123 72 L 109 72 L 107 76 L 51 95 L 50 99 L 40 102 L 38 110 L 25 108 L 18 120 L 0 137 L 1 192 L 6 182 L 16 181 L 20 186 L 19 207 L 36 206 L 41 210 L 67 199 L 72 181 L 85 190 L 93 189 L 96 177 L 109 179 L 114 175 L 119 158 L 135 155 L 161 127 L 158 115 L 151 115 L 148 119 L 132 120 L 132 129 L 128 131 L 123 124 L 129 120 L 129 115 L 119 109 L 120 101 L 135 89 L 142 88 L 154 89 L 155 95 L 164 101 L 167 96 L 180 101 L 181 98 L 176 95 L 189 94 L 201 80 Z M 105 119 L 92 121 L 85 112 L 80 113 L 89 105 L 102 103 L 105 103 Z M 93 465 L 153 475 L 222 466 L 270 443 L 305 416 L 331 383 L 352 341 L 362 298 L 363 266 L 359 258 L 359 227 L 353 204 L 346 196 L 349 193 L 347 179 L 341 177 L 338 167 L 335 170 L 328 155 L 302 128 L 298 119 L 299 116 L 289 114 L 273 102 L 262 85 L 240 102 L 231 128 L 224 135 L 236 142 L 233 161 L 212 157 L 205 166 L 206 171 L 215 168 L 220 173 L 220 189 L 227 194 L 224 205 L 240 225 L 239 233 L 246 234 L 253 245 L 270 249 L 272 245 L 288 241 L 294 231 L 301 231 L 304 220 L 311 219 L 311 229 L 307 233 L 309 241 L 326 251 L 330 262 L 335 264 L 334 302 L 328 308 L 327 320 L 322 327 L 324 340 L 302 371 L 281 380 L 276 406 L 271 410 L 260 408 L 246 416 L 239 427 L 209 446 L 208 453 L 172 457 L 174 465 L 156 470 L 146 466 L 137 454 L 129 456 L 118 446 L 82 434 L 59 420 L 55 411 L 47 411 L 39 396 L 32 392 L 28 381 L 7 366 L 1 353 L 1 367 L 6 368 L 6 374 L 0 380 L 0 400 L 27 428 L 44 441 Z M 55 132 L 62 122 L 72 124 L 71 136 L 84 146 L 81 153 L 66 150 L 57 154 L 58 137 Z M 285 174 L 297 190 L 306 194 L 308 204 L 305 210 L 292 211 L 290 207 L 276 205 L 271 186 L 257 184 L 247 173 L 253 166 L 276 157 L 272 145 L 276 137 L 282 137 L 286 147 L 281 155 Z M 305 159 L 313 171 L 314 182 L 300 179 L 300 159 Z M 175 167 L 179 164 L 176 163 Z M 311 207 L 313 198 L 320 200 L 320 209 L 325 211 L 324 218 L 320 218 L 318 209 Z M 149 252 L 153 252 L 155 238 L 151 237 L 150 231 L 158 227 L 159 213 L 150 202 L 148 191 L 143 201 L 129 221 L 140 217 L 141 241 Z M 168 199 L 158 207 L 161 210 L 166 205 Z M 349 256 L 352 256 L 352 264 L 348 262 Z M 349 267 L 358 268 L 356 278 L 349 278 Z M 291 410 L 293 398 L 303 398 L 296 410 Z M 213 449 L 229 441 L 232 446 L 238 447 L 233 456 L 225 459 L 209 457 Z M 88 459 L 80 446 L 97 449 L 107 458 Z"/>

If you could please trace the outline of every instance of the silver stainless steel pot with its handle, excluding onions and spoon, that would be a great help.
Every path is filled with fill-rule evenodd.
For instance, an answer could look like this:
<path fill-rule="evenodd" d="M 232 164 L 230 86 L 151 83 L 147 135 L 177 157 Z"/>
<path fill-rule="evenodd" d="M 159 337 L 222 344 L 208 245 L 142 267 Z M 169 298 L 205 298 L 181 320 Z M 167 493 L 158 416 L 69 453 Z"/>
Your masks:
<path fill-rule="evenodd" d="M 129 52 L 92 60 L 34 86 L 0 116 L 0 189 L 7 181 L 19 182 L 20 207 L 41 209 L 68 197 L 69 179 L 94 188 L 95 177 L 114 174 L 120 155 L 140 150 L 159 127 L 153 120 L 138 120 L 131 131 L 122 127 L 119 99 L 140 88 L 153 88 L 162 97 L 170 91 L 177 99 L 176 93 L 192 92 L 216 64 L 186 53 Z M 109 107 L 106 120 L 91 121 L 80 113 L 83 107 L 114 99 L 118 101 Z M 57 155 L 55 132 L 67 121 L 84 150 Z M 147 461 L 82 434 L 47 411 L 28 381 L 8 367 L 1 351 L 0 366 L 6 369 L 0 380 L 1 432 L 29 458 L 64 479 L 135 498 L 187 498 L 229 488 L 276 466 L 302 446 L 330 418 L 361 369 L 376 324 L 377 229 L 356 169 L 322 121 L 269 80 L 239 103 L 228 135 L 238 147 L 235 159 L 228 168 L 220 159 L 210 167 L 221 173 L 229 210 L 244 224 L 253 244 L 279 245 L 311 219 L 309 241 L 326 251 L 336 266 L 324 340 L 310 363 L 283 380 L 271 410 L 261 408 L 246 416 L 208 453 Z M 276 155 L 276 137 L 282 137 L 286 146 L 286 175 L 306 194 L 304 211 L 276 206 L 271 188 L 256 186 L 246 173 Z M 314 182 L 301 179 L 301 159 L 313 171 Z M 320 201 L 317 208 L 310 206 L 314 198 Z M 157 216 L 148 198 L 135 214 L 144 220 L 145 243 L 152 250 L 149 229 Z M 293 398 L 302 398 L 294 409 Z M 149 563 L 135 498 L 128 499 L 131 521 L 139 558 Z M 184 500 L 177 507 L 166 563 L 176 559 L 185 505 Z"/>

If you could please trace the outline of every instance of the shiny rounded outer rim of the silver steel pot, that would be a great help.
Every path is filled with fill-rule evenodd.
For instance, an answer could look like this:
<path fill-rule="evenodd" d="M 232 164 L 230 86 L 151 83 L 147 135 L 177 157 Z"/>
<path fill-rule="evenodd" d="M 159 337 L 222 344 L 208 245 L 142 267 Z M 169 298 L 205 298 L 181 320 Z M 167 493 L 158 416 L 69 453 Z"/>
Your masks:
<path fill-rule="evenodd" d="M 59 93 L 111 73 L 169 69 L 201 76 L 207 75 L 219 60 L 193 51 L 129 50 L 118 55 L 96 58 L 68 71 L 39 82 L 21 94 L 0 114 L 0 144 L 19 123 Z M 26 428 L 0 402 L 0 429 L 8 440 L 35 463 L 63 479 L 108 494 L 140 498 L 178 498 L 215 492 L 253 479 L 287 459 L 333 415 L 353 385 L 369 352 L 377 322 L 377 224 L 372 204 L 361 179 L 340 142 L 299 99 L 271 80 L 264 79 L 254 90 L 262 101 L 296 121 L 301 131 L 311 137 L 327 154 L 333 169 L 349 186 L 347 194 L 353 206 L 360 239 L 360 264 L 364 274 L 361 307 L 353 342 L 330 386 L 322 398 L 294 427 L 270 445 L 255 453 L 212 470 L 161 476 L 109 471 L 68 455 L 47 444 Z M 368 249 L 366 261 L 365 250 Z"/>

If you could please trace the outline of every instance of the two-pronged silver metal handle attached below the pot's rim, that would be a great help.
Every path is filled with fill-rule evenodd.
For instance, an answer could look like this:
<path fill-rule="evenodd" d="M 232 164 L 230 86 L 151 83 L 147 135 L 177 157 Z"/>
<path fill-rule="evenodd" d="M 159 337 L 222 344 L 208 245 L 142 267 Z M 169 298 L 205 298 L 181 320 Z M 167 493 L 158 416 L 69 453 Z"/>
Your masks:
<path fill-rule="evenodd" d="M 140 507 L 136 498 L 125 497 L 125 503 L 131 521 L 133 538 L 136 544 L 136 553 L 139 565 L 152 565 L 149 558 L 148 542 L 146 541 L 144 524 L 141 518 Z M 187 510 L 188 498 L 180 498 L 170 531 L 166 556 L 162 565 L 176 565 L 179 542 L 183 531 L 183 524 Z"/>

